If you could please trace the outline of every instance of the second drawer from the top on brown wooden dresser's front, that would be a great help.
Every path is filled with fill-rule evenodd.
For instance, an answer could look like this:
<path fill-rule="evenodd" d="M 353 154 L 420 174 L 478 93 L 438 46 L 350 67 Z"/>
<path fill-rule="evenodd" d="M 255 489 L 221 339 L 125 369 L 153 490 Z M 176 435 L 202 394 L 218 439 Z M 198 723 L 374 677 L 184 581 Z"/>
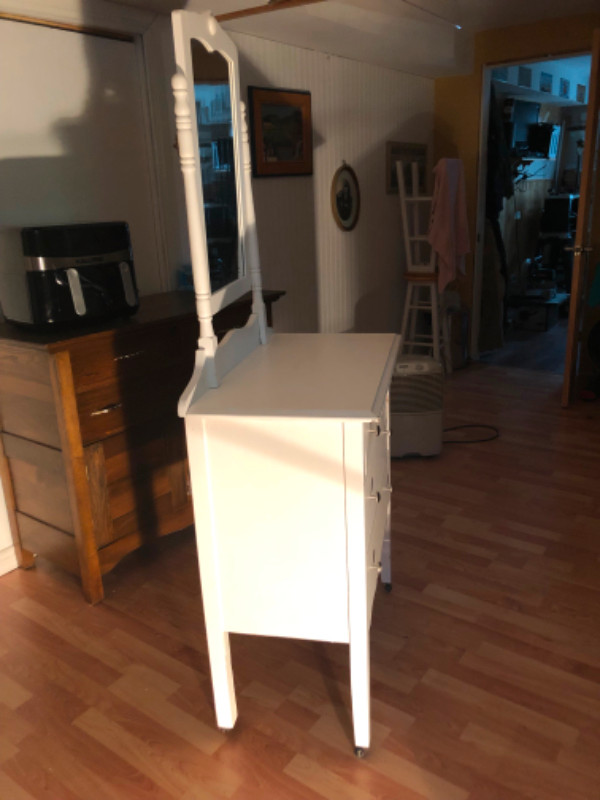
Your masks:
<path fill-rule="evenodd" d="M 78 394 L 83 443 L 105 439 L 149 420 L 176 419 L 177 402 L 191 373 L 189 364 L 175 361 L 143 376 L 124 375 L 120 381 Z"/>

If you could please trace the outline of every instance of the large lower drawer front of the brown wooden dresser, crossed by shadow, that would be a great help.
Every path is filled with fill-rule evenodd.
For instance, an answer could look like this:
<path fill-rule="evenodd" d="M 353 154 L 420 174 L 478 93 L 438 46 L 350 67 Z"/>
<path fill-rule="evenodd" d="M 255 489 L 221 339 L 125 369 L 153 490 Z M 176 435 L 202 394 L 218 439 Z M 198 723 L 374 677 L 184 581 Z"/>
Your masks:
<path fill-rule="evenodd" d="M 182 421 L 128 430 L 102 449 L 110 524 L 99 546 L 138 530 L 151 540 L 192 524 Z"/>

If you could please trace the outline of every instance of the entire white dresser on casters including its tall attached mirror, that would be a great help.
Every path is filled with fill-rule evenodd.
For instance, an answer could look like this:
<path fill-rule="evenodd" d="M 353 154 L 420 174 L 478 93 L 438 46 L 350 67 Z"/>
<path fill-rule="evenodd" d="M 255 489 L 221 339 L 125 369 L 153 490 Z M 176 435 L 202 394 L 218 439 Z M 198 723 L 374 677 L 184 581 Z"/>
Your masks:
<path fill-rule="evenodd" d="M 373 597 L 380 573 L 391 580 L 388 389 L 400 339 L 267 328 L 237 50 L 208 13 L 173 12 L 173 33 L 175 120 L 200 323 L 179 413 L 217 723 L 232 728 L 237 717 L 230 633 L 345 642 L 356 753 L 363 755 L 370 741 Z M 215 86 L 231 97 L 236 202 L 227 208 L 239 245 L 238 260 L 218 270 L 208 247 L 203 179 L 211 196 L 215 186 L 210 163 L 199 157 L 199 143 L 212 135 L 203 120 Z M 250 286 L 248 322 L 217 344 L 214 313 Z"/>

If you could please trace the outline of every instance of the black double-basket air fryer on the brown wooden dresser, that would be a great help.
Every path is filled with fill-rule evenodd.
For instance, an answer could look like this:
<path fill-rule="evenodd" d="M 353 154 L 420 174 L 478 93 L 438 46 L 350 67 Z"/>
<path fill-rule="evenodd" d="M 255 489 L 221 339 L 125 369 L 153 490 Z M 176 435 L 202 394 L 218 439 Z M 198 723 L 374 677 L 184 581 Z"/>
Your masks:
<path fill-rule="evenodd" d="M 43 327 L 134 313 L 129 226 L 0 228 L 0 303 L 7 320 Z"/>

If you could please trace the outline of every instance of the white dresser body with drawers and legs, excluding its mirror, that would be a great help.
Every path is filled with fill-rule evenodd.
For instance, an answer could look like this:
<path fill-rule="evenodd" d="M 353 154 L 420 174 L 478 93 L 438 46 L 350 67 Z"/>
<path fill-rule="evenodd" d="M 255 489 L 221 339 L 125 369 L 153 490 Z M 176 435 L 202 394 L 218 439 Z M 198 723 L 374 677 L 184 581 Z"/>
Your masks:
<path fill-rule="evenodd" d="M 186 433 L 220 727 L 237 711 L 228 633 L 350 645 L 369 746 L 369 625 L 390 582 L 393 334 L 275 334 L 192 400 Z"/>

